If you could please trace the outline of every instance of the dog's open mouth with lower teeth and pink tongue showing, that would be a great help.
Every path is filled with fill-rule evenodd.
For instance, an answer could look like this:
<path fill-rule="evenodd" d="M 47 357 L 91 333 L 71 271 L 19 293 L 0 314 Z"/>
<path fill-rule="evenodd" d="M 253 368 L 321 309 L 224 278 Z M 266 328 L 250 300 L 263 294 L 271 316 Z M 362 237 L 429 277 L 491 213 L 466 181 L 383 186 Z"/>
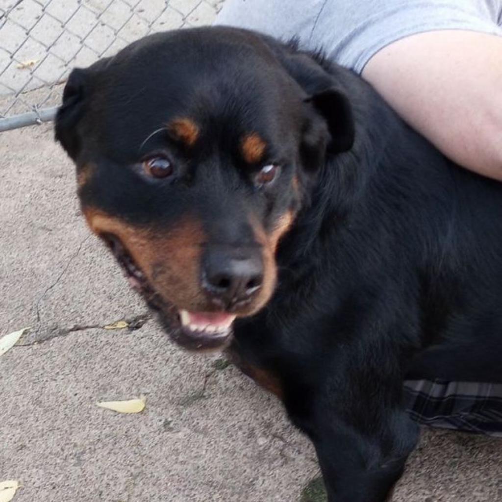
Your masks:
<path fill-rule="evenodd" d="M 159 313 L 160 320 L 173 341 L 191 350 L 217 349 L 228 345 L 236 314 L 178 309 L 155 291 L 120 239 L 112 234 L 101 234 L 101 237 L 130 286 L 145 298 L 151 309 Z"/>

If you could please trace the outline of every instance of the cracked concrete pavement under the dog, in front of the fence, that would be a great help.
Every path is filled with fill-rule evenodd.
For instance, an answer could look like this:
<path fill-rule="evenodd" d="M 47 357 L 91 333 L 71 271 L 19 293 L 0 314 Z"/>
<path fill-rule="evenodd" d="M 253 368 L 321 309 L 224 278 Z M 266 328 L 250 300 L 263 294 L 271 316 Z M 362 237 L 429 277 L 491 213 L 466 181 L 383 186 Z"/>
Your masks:
<path fill-rule="evenodd" d="M 319 475 L 281 405 L 173 346 L 79 215 L 50 124 L 0 135 L 0 481 L 15 502 L 297 502 Z M 126 319 L 135 329 L 105 330 Z M 96 401 L 143 394 L 139 415 Z M 319 502 L 321 498 L 302 499 Z M 502 500 L 502 441 L 425 431 L 396 502 Z"/>

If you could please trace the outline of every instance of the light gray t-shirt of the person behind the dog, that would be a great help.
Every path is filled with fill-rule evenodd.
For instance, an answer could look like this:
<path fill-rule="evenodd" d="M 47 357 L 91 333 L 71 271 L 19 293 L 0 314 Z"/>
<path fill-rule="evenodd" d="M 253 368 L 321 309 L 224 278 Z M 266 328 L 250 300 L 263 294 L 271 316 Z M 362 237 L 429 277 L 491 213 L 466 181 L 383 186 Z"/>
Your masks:
<path fill-rule="evenodd" d="M 228 0 L 216 23 L 261 31 L 362 72 L 399 39 L 434 30 L 502 36 L 502 0 Z M 502 57 L 502 55 L 501 55 Z"/>

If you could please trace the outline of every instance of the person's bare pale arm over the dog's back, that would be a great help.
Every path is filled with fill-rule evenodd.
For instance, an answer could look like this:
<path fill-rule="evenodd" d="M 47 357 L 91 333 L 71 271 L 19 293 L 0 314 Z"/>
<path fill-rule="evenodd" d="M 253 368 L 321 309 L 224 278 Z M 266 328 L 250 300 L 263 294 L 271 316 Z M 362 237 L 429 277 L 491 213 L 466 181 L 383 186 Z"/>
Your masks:
<path fill-rule="evenodd" d="M 502 37 L 409 36 L 376 53 L 362 76 L 446 156 L 502 181 Z"/>

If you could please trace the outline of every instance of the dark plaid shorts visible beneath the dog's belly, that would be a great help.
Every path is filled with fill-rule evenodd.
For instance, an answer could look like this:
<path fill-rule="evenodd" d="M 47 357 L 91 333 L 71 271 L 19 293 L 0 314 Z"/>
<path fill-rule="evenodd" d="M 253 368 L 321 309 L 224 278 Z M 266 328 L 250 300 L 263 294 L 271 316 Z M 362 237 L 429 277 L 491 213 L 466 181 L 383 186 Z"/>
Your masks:
<path fill-rule="evenodd" d="M 502 384 L 407 380 L 404 403 L 420 424 L 502 437 Z"/>

